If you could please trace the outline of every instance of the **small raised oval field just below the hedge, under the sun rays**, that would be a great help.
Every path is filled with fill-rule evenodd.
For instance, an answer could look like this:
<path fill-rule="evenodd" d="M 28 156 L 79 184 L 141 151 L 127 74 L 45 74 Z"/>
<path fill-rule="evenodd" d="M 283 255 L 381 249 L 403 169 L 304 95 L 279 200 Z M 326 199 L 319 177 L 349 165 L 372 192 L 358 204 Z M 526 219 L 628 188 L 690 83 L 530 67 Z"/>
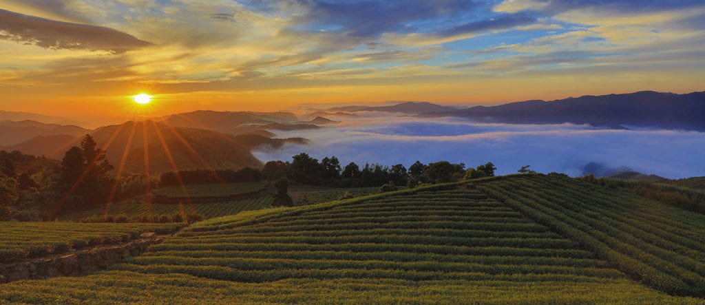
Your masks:
<path fill-rule="evenodd" d="M 266 187 L 265 182 L 242 182 L 242 183 L 208 183 L 200 185 L 174 185 L 169 187 L 159 187 L 154 189 L 154 194 L 164 197 L 227 197 L 230 195 L 247 194 L 257 192 Z"/>

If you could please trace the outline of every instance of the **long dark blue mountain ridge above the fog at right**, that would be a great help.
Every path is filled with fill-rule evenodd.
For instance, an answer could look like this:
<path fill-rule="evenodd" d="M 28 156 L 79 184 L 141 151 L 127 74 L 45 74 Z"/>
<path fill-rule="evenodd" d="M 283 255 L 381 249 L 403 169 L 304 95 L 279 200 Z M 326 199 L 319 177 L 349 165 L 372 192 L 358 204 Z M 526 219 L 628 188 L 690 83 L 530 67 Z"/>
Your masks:
<path fill-rule="evenodd" d="M 673 94 L 635 92 L 522 101 L 424 113 L 424 117 L 458 116 L 481 122 L 512 124 L 589 124 L 606 127 L 658 127 L 705 131 L 705 92 Z"/>

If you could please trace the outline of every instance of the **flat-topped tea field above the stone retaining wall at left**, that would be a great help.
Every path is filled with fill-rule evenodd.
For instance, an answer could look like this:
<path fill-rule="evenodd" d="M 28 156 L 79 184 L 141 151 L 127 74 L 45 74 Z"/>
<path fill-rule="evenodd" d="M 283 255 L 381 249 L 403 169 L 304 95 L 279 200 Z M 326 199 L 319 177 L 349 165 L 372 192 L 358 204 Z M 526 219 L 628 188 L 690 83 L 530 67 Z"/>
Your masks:
<path fill-rule="evenodd" d="M 0 262 L 128 242 L 142 232 L 172 232 L 182 226 L 156 223 L 4 222 L 0 223 Z"/>

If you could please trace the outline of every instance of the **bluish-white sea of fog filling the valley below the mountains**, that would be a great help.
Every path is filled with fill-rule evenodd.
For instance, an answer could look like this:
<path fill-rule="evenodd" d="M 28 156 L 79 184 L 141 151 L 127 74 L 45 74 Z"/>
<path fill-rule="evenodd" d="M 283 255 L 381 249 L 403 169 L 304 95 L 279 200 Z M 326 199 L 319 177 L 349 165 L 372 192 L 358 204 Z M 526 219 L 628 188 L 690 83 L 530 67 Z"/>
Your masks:
<path fill-rule="evenodd" d="M 338 118 L 331 118 L 338 119 Z M 541 173 L 582 175 L 588 163 L 630 168 L 666 178 L 705 175 L 705 132 L 612 130 L 589 125 L 510 125 L 473 123 L 458 118 L 419 119 L 367 113 L 344 118 L 319 130 L 276 132 L 306 137 L 307 145 L 287 144 L 276 151 L 255 151 L 262 161 L 291 161 L 306 152 L 314 158 L 336 156 L 345 166 L 450 161 L 474 167 L 491 161 L 500 175 L 525 165 Z"/>

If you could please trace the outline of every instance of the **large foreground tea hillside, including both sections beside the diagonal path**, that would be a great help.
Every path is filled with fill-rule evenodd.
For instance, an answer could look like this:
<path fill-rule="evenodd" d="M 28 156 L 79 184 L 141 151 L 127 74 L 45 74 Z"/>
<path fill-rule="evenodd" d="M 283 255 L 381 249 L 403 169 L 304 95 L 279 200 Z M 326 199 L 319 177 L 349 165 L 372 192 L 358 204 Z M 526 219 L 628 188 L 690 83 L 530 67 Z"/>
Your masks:
<path fill-rule="evenodd" d="M 474 185 L 212 218 L 105 273 L 3 285 L 0 300 L 705 301 L 664 293 L 702 295 L 705 216 L 543 175 Z"/>

